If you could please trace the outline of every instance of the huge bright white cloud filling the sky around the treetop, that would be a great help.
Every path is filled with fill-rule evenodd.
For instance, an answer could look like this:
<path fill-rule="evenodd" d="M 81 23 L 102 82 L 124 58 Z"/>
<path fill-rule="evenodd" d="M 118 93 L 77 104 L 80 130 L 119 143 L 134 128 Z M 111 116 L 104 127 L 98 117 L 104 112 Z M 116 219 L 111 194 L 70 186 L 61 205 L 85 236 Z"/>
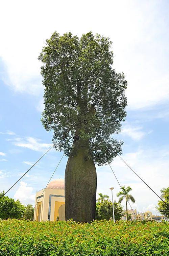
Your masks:
<path fill-rule="evenodd" d="M 45 40 L 56 29 L 61 34 L 71 31 L 78 36 L 92 30 L 113 41 L 114 67 L 123 71 L 128 81 L 129 108 L 163 103 L 169 99 L 168 17 L 162 11 L 164 7 L 163 1 L 106 1 L 103 5 L 102 1 L 96 4 L 87 0 L 85 5 L 79 5 L 73 0 L 66 2 L 66 8 L 65 1 L 49 1 L 48 5 L 45 1 L 13 1 L 10 5 L 3 1 L 3 79 L 15 91 L 42 95 L 41 64 L 37 58 Z M 37 109 L 42 109 L 39 104 Z"/>

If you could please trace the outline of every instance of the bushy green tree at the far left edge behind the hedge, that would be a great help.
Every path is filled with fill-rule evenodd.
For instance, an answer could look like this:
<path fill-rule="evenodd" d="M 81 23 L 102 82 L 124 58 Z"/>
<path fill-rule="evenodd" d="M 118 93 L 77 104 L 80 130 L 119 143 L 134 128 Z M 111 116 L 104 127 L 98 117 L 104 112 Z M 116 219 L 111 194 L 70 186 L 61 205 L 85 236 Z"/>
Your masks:
<path fill-rule="evenodd" d="M 1 198 L 3 196 L 3 198 Z M 24 215 L 25 206 L 19 200 L 15 201 L 13 198 L 4 196 L 4 191 L 0 193 L 0 219 L 7 220 L 21 219 Z"/>

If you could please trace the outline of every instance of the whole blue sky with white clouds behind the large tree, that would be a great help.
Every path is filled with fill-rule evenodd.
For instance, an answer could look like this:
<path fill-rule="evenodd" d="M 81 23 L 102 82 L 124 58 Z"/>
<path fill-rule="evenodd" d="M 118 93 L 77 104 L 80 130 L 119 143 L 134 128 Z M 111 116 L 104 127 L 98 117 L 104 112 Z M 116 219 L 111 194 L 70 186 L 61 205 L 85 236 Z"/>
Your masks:
<path fill-rule="evenodd" d="M 10 6 L 10 7 L 9 7 Z M 52 8 L 51 8 L 52 7 Z M 0 187 L 7 190 L 51 145 L 40 122 L 41 64 L 37 60 L 54 30 L 80 36 L 93 31 L 113 41 L 114 68 L 128 81 L 123 159 L 158 193 L 169 185 L 168 1 L 5 1 L 0 19 Z M 51 150 L 8 192 L 22 203 L 46 186 L 63 152 Z M 64 178 L 67 157 L 54 178 Z M 121 185 L 131 186 L 139 212 L 155 213 L 158 202 L 120 159 L 112 163 Z M 110 167 L 97 167 L 97 192 L 119 186 Z M 116 195 L 115 195 L 115 199 Z"/>

